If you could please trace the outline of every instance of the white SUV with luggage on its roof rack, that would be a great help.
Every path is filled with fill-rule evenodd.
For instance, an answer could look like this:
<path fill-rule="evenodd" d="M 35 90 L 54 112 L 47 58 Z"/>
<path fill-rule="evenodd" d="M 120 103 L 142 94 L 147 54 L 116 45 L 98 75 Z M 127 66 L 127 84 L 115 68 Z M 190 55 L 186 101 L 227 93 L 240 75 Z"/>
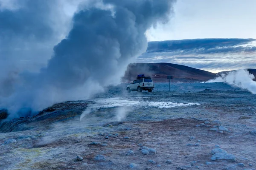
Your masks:
<path fill-rule="evenodd" d="M 136 80 L 134 80 L 130 85 L 127 85 L 126 90 L 128 93 L 131 91 L 138 91 L 142 92 L 143 90 L 152 92 L 154 88 L 154 82 L 150 77 L 137 77 Z"/>

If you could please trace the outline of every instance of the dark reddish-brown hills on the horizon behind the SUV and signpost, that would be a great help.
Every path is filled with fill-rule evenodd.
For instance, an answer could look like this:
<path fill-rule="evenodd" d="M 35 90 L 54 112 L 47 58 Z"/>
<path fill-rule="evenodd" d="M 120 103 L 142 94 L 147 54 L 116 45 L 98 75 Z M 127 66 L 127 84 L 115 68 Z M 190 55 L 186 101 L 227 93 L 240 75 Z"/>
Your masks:
<path fill-rule="evenodd" d="M 256 69 L 248 69 L 256 77 Z M 131 82 L 138 74 L 151 76 L 154 82 L 168 82 L 167 75 L 172 75 L 172 82 L 202 82 L 213 79 L 219 73 L 211 73 L 185 65 L 172 63 L 131 63 L 125 71 L 123 82 Z"/>

